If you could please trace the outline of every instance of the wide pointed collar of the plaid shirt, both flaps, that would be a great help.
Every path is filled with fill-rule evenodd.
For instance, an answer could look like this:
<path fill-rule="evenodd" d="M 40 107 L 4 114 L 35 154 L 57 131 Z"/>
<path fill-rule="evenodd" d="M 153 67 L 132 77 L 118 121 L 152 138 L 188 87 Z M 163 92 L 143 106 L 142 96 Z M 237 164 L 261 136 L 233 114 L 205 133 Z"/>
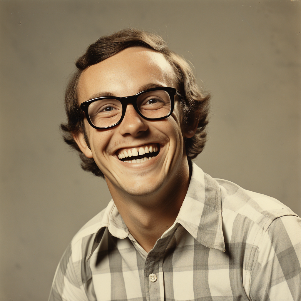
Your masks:
<path fill-rule="evenodd" d="M 200 244 L 225 252 L 219 184 L 194 162 L 192 162 L 192 175 L 188 191 L 179 214 L 172 227 L 162 234 L 162 238 L 171 234 L 178 224 L 181 224 Z M 87 260 L 98 246 L 97 237 L 104 227 L 108 227 L 110 233 L 119 239 L 124 239 L 129 235 L 129 230 L 113 199 L 105 209 L 99 230 L 94 234 L 94 242 Z"/>

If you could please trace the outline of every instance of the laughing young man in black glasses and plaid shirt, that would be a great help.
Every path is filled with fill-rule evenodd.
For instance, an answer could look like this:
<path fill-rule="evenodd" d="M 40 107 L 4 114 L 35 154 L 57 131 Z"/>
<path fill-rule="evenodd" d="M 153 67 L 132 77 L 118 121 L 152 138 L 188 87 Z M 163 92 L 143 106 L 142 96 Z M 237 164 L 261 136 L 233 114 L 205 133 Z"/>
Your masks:
<path fill-rule="evenodd" d="M 300 218 L 191 162 L 210 95 L 185 60 L 125 29 L 76 67 L 65 141 L 112 200 L 71 241 L 49 300 L 300 300 Z"/>

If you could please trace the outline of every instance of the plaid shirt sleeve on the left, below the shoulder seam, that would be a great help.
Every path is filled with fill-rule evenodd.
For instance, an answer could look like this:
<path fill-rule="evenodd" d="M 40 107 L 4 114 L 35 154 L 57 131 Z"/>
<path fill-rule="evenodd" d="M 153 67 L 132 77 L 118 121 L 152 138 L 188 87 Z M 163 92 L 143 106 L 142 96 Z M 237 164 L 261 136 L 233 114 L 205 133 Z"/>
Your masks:
<path fill-rule="evenodd" d="M 48 301 L 88 301 L 83 286 L 79 285 L 79 275 L 72 261 L 70 244 L 57 266 Z"/>

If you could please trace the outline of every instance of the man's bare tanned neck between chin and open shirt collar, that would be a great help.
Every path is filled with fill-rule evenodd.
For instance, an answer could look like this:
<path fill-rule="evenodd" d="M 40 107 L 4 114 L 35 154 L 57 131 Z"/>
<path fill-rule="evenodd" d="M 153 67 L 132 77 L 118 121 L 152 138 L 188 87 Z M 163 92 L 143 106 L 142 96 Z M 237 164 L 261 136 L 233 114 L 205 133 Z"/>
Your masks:
<path fill-rule="evenodd" d="M 124 191 L 119 191 L 108 183 L 123 221 L 146 252 L 154 247 L 157 239 L 173 225 L 178 216 L 191 176 L 188 162 L 186 163 L 182 172 L 177 173 L 152 195 L 125 194 Z"/>

